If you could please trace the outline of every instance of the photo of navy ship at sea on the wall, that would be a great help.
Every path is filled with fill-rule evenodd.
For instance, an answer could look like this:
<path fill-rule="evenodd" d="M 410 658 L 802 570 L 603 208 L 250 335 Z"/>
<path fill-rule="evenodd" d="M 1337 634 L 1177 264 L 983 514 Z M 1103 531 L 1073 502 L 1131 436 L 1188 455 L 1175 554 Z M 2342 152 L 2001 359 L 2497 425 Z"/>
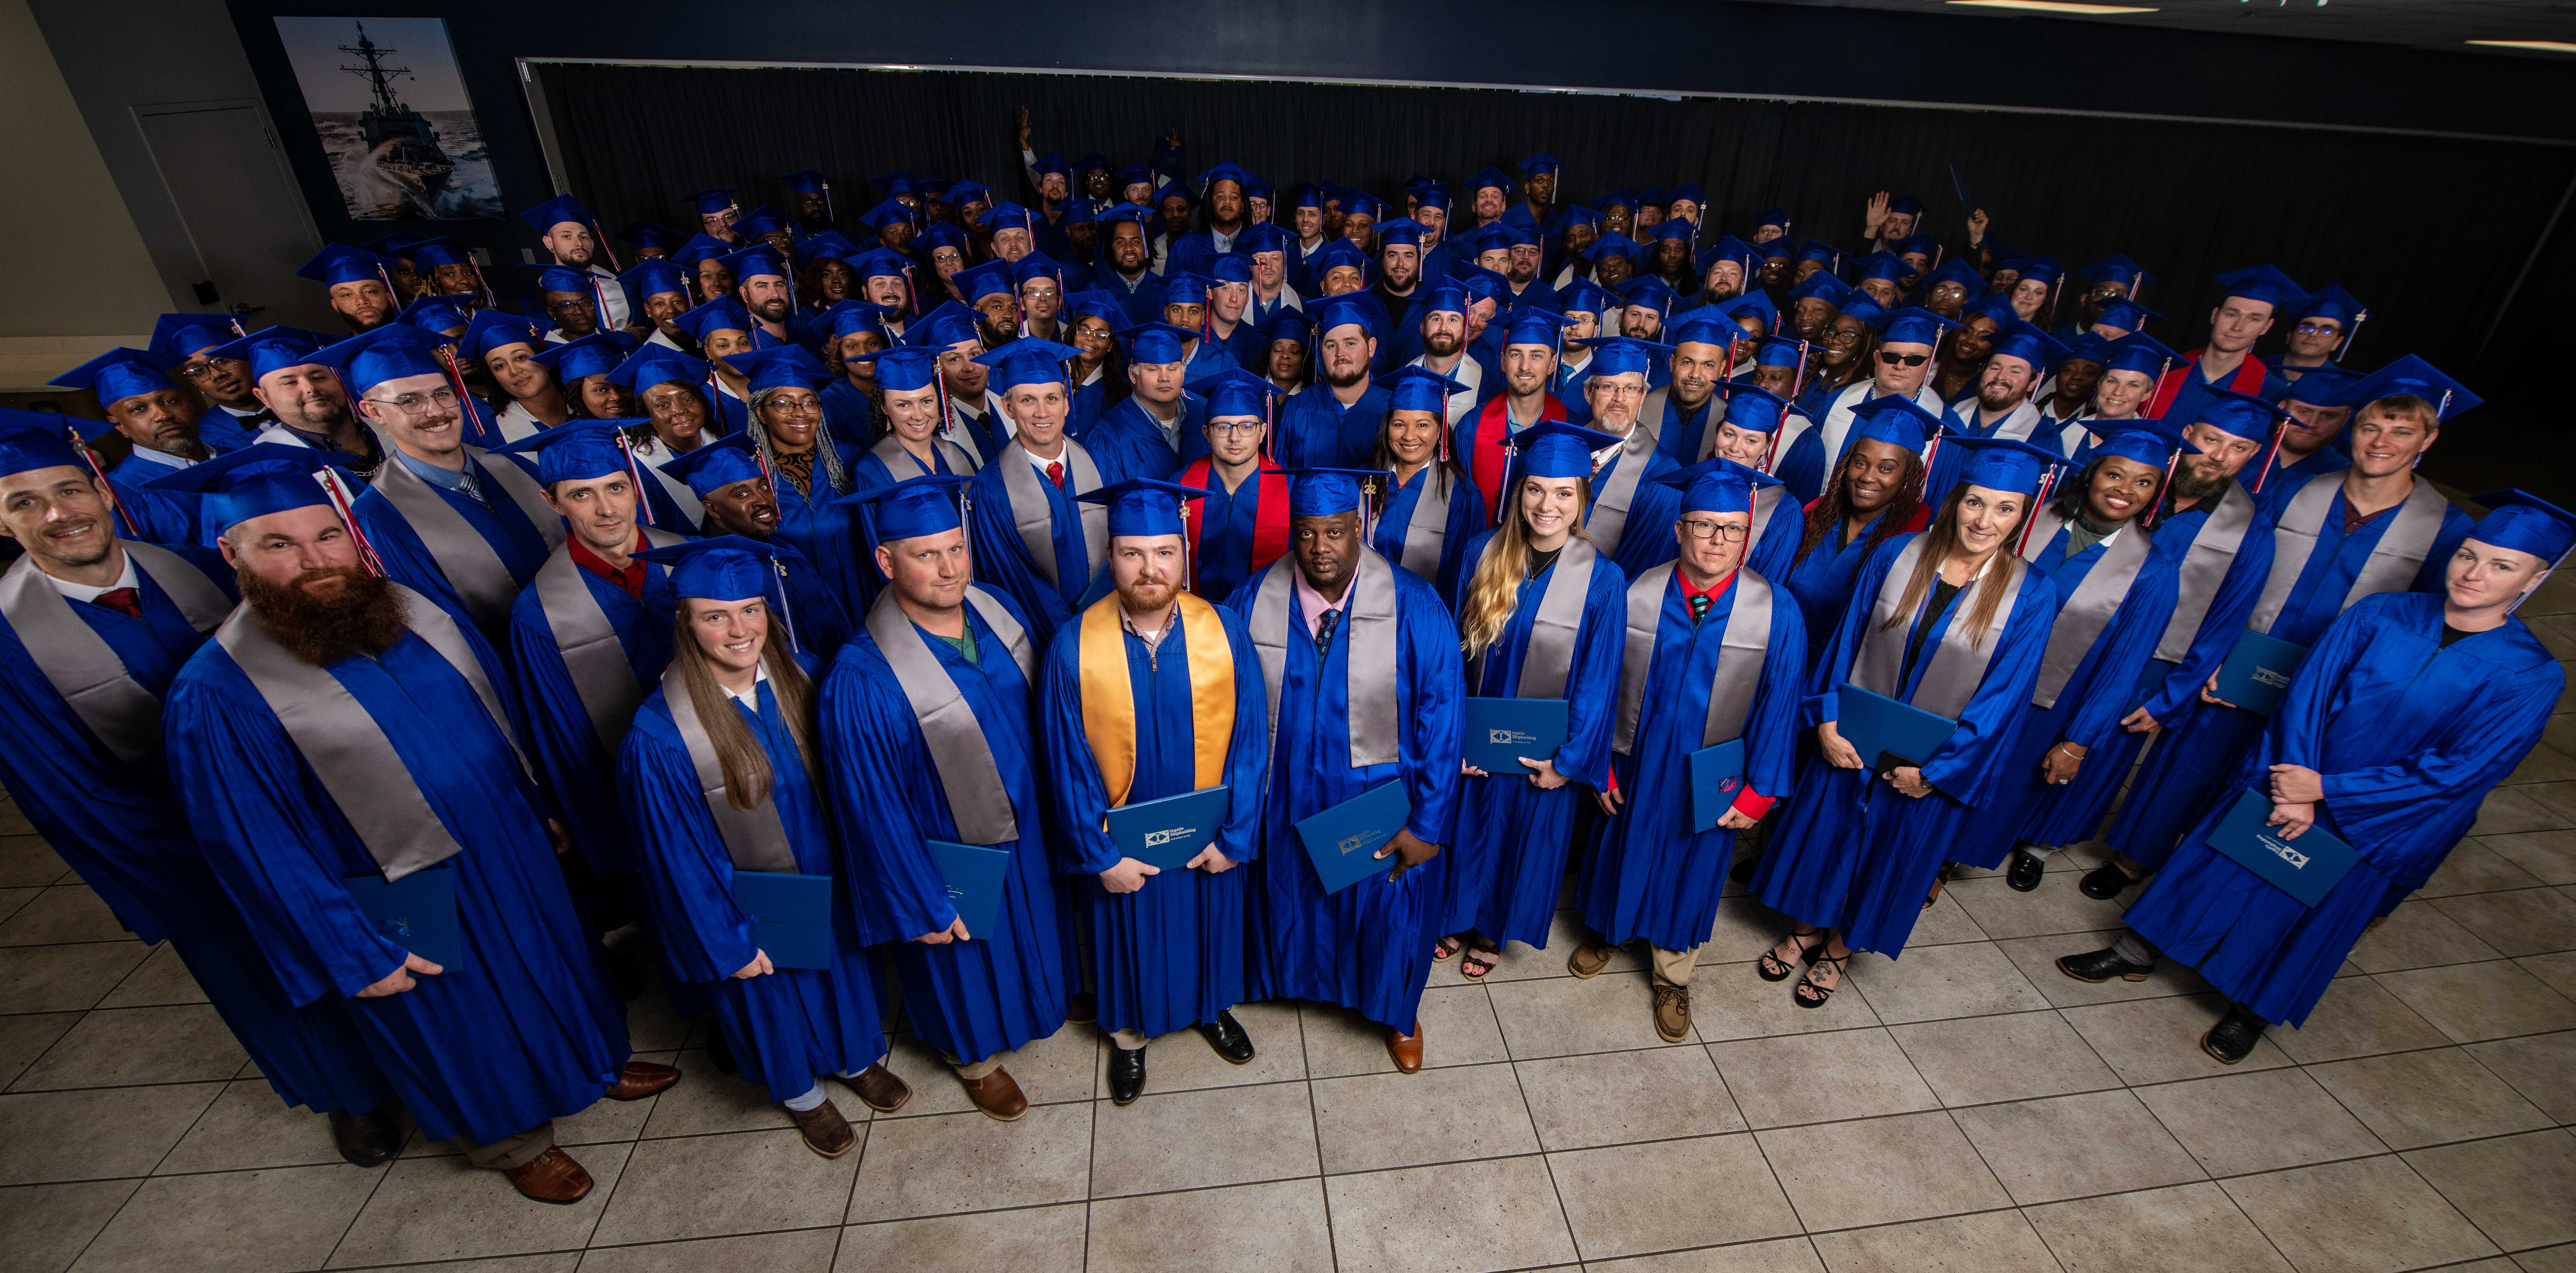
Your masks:
<path fill-rule="evenodd" d="M 482 121 L 440 18 L 276 18 L 353 222 L 502 214 Z"/>

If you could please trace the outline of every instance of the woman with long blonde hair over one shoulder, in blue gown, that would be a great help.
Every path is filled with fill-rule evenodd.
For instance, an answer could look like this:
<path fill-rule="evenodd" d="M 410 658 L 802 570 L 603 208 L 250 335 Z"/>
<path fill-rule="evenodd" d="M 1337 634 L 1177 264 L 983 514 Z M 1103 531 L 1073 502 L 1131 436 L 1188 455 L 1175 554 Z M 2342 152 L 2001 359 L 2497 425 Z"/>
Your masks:
<path fill-rule="evenodd" d="M 1458 585 L 1468 693 L 1566 701 L 1566 742 L 1553 755 L 1522 758 L 1525 773 L 1463 768 L 1476 781 L 1458 791 L 1432 928 L 1450 933 L 1435 959 L 1463 938 L 1458 972 L 1471 979 L 1494 972 L 1507 941 L 1548 946 L 1574 838 L 1571 783 L 1595 781 L 1610 763 L 1628 575 L 1584 531 L 1592 456 L 1610 446 L 1613 436 L 1553 420 L 1528 430 L 1499 526 L 1468 544 L 1473 567 Z M 1656 490 L 1669 495 L 1667 510 L 1680 508 L 1680 492 Z M 1669 536 L 1672 521 L 1656 528 Z"/>

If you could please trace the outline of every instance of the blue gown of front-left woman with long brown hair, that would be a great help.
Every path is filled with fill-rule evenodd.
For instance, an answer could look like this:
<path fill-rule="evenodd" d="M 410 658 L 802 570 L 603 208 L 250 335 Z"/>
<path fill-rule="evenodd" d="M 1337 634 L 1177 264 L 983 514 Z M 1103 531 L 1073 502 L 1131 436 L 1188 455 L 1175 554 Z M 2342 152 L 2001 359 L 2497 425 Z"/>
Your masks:
<path fill-rule="evenodd" d="M 814 657 L 799 655 L 796 662 L 811 667 Z M 734 698 L 726 706 L 770 758 L 770 804 L 796 853 L 796 871 L 835 876 L 835 902 L 845 902 L 850 879 L 832 853 L 832 819 L 778 711 L 778 693 L 760 680 L 757 714 Z M 636 827 L 636 874 L 644 876 L 665 959 L 716 1005 L 742 1077 L 768 1087 L 770 1100 L 791 1100 L 809 1093 L 817 1075 L 850 1075 L 884 1059 L 876 969 L 848 905 L 832 907 L 832 966 L 734 977 L 760 943 L 752 941 L 750 915 L 734 905 L 734 858 L 706 812 L 698 768 L 659 685 L 636 709 L 636 724 L 618 747 L 618 791 Z"/>

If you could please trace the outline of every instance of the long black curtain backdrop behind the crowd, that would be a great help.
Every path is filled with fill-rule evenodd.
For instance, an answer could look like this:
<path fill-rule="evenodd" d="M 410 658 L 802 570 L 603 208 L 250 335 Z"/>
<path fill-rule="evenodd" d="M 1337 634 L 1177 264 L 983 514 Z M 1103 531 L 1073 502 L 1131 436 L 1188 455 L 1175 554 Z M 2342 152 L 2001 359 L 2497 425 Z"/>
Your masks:
<path fill-rule="evenodd" d="M 2166 314 L 2148 330 L 2174 348 L 2205 338 L 2213 271 L 2275 263 L 2362 296 L 2354 366 L 2419 353 L 2488 397 L 2501 387 L 2478 381 L 2476 353 L 2576 175 L 2568 147 L 1999 111 L 1028 72 L 541 62 L 536 75 L 569 188 L 611 227 L 690 229 L 688 193 L 729 186 L 750 209 L 799 168 L 832 175 L 842 219 L 876 204 L 871 173 L 896 168 L 1028 201 L 1012 147 L 1023 103 L 1033 147 L 1069 160 L 1144 162 L 1177 129 L 1193 168 L 1234 160 L 1275 188 L 1327 178 L 1401 206 L 1412 173 L 1517 175 L 1546 149 L 1577 201 L 1695 180 L 1716 229 L 1744 235 L 1752 214 L 1785 206 L 1795 235 L 1842 247 L 1880 188 L 1922 196 L 1924 229 L 1963 245 L 1955 168 L 2014 250 L 2143 263 L 2141 299 Z"/>

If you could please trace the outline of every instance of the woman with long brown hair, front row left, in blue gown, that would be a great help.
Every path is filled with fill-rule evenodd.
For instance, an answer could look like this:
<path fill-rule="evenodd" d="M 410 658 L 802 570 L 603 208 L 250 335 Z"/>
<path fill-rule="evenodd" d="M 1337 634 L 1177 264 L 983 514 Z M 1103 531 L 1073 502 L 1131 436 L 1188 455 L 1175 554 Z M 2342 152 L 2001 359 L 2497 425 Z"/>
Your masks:
<path fill-rule="evenodd" d="M 881 1062 L 868 935 L 840 868 L 822 776 L 814 673 L 775 621 L 770 544 L 737 536 L 647 549 L 670 570 L 672 660 L 618 745 L 616 796 L 670 966 L 716 1008 L 742 1080 L 786 1106 L 806 1149 L 842 1157 L 858 1131 L 822 1087 L 837 1075 L 891 1113 L 912 1098 Z M 824 876 L 824 966 L 778 966 L 734 899 L 737 871 Z"/>

